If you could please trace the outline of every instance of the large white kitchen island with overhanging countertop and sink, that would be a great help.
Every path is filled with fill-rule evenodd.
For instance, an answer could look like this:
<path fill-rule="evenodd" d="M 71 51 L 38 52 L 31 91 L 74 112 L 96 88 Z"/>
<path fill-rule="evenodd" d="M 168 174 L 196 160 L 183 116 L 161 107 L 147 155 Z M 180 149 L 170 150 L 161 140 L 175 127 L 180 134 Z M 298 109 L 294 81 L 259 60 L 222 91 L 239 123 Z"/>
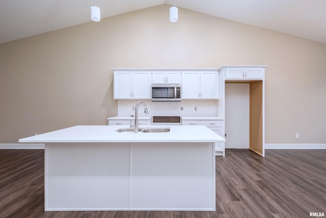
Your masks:
<path fill-rule="evenodd" d="M 118 128 L 75 126 L 19 140 L 45 143 L 46 211 L 215 210 L 214 142 L 224 138 L 205 126 Z"/>

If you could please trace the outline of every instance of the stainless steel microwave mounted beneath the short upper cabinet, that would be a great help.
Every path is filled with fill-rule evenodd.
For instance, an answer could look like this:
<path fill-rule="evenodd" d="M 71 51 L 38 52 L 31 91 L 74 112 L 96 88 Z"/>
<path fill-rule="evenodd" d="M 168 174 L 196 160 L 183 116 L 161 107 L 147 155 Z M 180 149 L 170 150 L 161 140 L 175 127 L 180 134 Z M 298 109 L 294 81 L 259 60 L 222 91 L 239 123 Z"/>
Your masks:
<path fill-rule="evenodd" d="M 180 84 L 153 84 L 151 86 L 152 102 L 180 102 Z"/>

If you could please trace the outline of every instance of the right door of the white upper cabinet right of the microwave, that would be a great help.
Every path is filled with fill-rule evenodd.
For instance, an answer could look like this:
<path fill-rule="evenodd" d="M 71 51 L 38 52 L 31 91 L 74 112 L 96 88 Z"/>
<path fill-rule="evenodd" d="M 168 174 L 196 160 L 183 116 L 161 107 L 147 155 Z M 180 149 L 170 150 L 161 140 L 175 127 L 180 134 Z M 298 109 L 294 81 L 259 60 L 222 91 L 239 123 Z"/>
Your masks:
<path fill-rule="evenodd" d="M 200 98 L 219 99 L 219 76 L 216 71 L 200 72 Z"/>

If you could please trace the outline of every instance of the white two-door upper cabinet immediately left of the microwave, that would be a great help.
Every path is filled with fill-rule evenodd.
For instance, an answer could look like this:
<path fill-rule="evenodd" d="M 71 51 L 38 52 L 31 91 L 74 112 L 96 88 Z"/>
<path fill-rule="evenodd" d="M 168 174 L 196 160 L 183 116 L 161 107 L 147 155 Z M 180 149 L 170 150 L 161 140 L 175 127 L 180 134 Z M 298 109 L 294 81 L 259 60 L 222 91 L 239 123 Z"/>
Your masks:
<path fill-rule="evenodd" d="M 115 71 L 114 99 L 150 99 L 150 71 Z"/>

